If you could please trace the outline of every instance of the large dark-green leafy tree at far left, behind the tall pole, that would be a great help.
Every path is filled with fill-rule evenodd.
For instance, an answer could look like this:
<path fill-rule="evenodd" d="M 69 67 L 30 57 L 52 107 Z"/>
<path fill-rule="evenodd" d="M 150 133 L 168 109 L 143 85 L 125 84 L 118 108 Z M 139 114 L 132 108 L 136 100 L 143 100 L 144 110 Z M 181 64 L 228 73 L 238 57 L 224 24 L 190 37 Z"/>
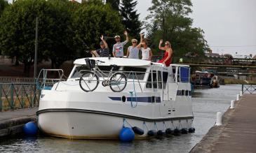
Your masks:
<path fill-rule="evenodd" d="M 70 34 L 67 28 L 69 16 L 65 7 L 58 6 L 62 2 L 65 3 L 18 0 L 6 8 L 0 19 L 0 48 L 4 54 L 22 62 L 27 75 L 34 64 L 36 17 L 39 18 L 39 61 L 72 54 L 66 44 Z"/>

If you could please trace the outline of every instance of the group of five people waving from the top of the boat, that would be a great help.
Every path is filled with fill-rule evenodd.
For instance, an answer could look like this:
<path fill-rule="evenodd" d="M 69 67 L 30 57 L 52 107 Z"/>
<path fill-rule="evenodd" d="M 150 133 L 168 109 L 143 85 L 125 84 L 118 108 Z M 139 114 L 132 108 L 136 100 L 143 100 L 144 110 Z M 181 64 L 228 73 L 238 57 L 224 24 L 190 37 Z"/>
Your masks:
<path fill-rule="evenodd" d="M 120 36 L 114 36 L 116 43 L 113 45 L 112 54 L 113 57 L 122 58 L 123 56 L 123 47 L 128 43 L 128 32 L 124 31 L 123 33 L 126 36 L 126 41 L 121 42 Z M 148 42 L 143 38 L 144 34 L 140 34 L 140 43 L 137 43 L 137 39 L 133 38 L 130 45 L 127 49 L 126 57 L 129 59 L 139 59 L 139 52 L 142 52 L 142 59 L 151 61 L 152 51 L 148 47 Z M 100 49 L 91 51 L 93 57 L 109 57 L 109 47 L 107 42 L 104 40 L 104 37 L 100 37 Z M 170 42 L 166 41 L 164 47 L 162 47 L 163 40 L 159 41 L 159 50 L 164 50 L 165 54 L 163 59 L 159 60 L 159 63 L 170 66 L 173 57 L 173 50 L 170 46 Z"/>

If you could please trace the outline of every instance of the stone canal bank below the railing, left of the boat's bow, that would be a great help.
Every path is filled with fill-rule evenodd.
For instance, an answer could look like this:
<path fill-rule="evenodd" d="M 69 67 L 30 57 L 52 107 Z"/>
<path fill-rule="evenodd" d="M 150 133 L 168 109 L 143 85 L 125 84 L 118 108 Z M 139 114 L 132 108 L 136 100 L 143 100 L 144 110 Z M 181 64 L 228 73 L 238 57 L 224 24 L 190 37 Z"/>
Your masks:
<path fill-rule="evenodd" d="M 24 124 L 36 121 L 38 108 L 0 112 L 0 137 L 22 133 Z"/>

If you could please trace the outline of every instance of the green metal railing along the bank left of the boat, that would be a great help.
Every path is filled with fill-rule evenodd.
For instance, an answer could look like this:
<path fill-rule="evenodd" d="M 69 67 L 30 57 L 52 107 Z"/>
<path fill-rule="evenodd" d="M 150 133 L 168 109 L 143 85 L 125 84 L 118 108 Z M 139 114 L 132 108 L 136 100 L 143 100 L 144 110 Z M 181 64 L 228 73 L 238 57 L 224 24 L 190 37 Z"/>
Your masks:
<path fill-rule="evenodd" d="M 0 111 L 38 107 L 40 94 L 35 83 L 0 83 Z"/>

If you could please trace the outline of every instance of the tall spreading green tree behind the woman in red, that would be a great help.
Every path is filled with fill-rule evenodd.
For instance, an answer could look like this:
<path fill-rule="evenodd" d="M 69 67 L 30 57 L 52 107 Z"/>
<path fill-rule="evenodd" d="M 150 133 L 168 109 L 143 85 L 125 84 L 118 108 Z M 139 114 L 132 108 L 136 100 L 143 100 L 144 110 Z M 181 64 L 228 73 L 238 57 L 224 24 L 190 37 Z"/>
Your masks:
<path fill-rule="evenodd" d="M 191 0 L 152 0 L 152 4 L 147 19 L 159 24 L 159 29 L 154 32 L 155 45 L 158 44 L 156 39 L 170 41 L 175 56 L 182 56 L 187 52 L 202 55 L 207 50 L 203 30 L 191 27 Z"/>

